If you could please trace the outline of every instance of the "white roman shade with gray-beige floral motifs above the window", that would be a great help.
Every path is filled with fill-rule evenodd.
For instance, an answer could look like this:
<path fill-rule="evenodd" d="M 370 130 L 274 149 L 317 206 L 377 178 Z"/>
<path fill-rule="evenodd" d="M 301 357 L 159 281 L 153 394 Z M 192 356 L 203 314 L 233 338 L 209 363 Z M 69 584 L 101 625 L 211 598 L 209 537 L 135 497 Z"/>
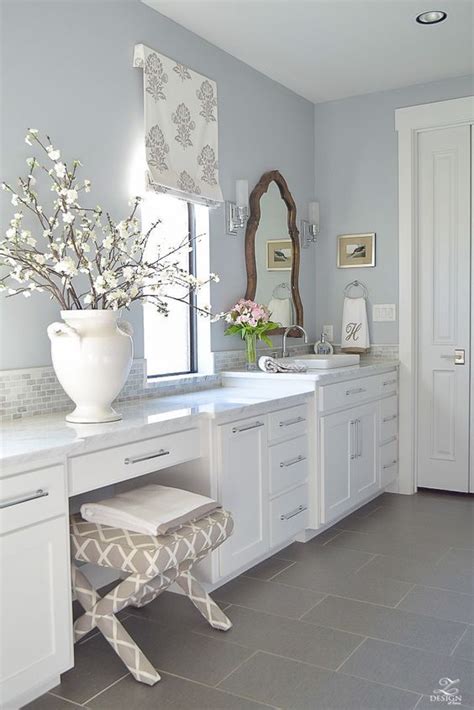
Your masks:
<path fill-rule="evenodd" d="M 143 44 L 133 66 L 143 69 L 150 189 L 218 206 L 216 83 Z"/>

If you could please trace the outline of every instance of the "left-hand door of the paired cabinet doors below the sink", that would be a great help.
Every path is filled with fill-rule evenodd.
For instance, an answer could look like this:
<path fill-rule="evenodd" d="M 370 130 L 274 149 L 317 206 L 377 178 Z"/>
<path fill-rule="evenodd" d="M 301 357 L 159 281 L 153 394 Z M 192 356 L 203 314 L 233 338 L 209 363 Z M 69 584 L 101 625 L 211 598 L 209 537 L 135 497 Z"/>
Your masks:
<path fill-rule="evenodd" d="M 321 419 L 321 522 L 329 523 L 351 506 L 353 423 L 348 412 Z"/>

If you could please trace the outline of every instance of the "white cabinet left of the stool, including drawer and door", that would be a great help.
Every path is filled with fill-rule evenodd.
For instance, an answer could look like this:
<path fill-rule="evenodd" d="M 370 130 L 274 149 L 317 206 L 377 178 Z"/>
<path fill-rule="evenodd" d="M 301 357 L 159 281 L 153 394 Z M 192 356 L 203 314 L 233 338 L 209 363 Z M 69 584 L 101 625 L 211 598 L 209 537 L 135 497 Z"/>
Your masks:
<path fill-rule="evenodd" d="M 73 665 L 64 471 L 12 476 L 0 490 L 0 706 L 15 708 Z"/>

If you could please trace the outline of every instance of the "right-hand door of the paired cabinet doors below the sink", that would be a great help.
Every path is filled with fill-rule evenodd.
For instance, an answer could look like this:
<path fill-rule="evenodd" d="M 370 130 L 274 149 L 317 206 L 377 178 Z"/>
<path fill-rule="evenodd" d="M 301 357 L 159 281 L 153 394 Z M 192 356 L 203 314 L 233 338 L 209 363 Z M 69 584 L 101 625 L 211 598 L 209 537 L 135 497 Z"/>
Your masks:
<path fill-rule="evenodd" d="M 376 403 L 352 410 L 354 458 L 351 461 L 351 503 L 356 504 L 380 487 L 378 454 L 378 406 Z"/>

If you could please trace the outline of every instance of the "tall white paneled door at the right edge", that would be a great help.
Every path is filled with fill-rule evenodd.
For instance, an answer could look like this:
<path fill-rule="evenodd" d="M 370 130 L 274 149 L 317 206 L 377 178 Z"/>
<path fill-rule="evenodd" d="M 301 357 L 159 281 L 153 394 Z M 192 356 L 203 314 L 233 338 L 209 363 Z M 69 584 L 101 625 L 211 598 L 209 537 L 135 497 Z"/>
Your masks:
<path fill-rule="evenodd" d="M 467 125 L 419 135 L 418 486 L 450 491 L 469 485 L 470 155 Z"/>

